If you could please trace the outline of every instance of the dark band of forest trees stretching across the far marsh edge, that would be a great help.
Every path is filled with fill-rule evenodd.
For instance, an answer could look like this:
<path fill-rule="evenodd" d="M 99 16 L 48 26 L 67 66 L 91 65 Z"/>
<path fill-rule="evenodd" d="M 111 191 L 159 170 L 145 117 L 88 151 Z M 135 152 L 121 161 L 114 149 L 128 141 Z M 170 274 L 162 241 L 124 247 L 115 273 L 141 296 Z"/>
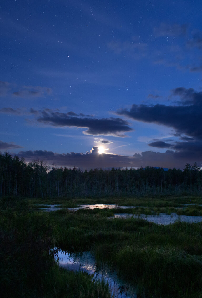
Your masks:
<path fill-rule="evenodd" d="M 143 196 L 159 194 L 201 194 L 202 171 L 196 163 L 180 169 L 91 169 L 48 167 L 34 160 L 0 153 L 0 196 L 29 198 Z"/>

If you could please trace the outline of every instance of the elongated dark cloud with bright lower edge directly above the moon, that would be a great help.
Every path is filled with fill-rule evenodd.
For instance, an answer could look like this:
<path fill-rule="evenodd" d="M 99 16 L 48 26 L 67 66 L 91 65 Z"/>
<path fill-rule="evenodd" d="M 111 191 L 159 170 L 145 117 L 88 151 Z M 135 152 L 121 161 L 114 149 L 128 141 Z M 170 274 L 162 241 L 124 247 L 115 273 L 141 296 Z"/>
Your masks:
<path fill-rule="evenodd" d="M 70 117 L 68 113 L 48 112 L 43 110 L 41 117 L 37 120 L 43 124 L 49 124 L 57 127 L 78 127 L 88 128 L 83 131 L 87 135 L 106 135 L 126 137 L 125 132 L 132 131 L 128 122 L 120 118 L 81 118 Z"/>

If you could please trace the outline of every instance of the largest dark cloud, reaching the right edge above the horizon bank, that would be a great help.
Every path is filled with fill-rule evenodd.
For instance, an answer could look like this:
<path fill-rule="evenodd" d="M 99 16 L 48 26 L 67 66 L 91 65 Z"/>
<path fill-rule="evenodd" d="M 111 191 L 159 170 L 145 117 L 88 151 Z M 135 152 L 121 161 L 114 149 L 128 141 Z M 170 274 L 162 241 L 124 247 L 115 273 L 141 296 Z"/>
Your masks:
<path fill-rule="evenodd" d="M 178 96 L 178 105 L 136 105 L 130 110 L 120 109 L 118 115 L 135 120 L 156 123 L 174 128 L 178 134 L 202 139 L 202 92 L 184 87 L 171 90 Z"/>

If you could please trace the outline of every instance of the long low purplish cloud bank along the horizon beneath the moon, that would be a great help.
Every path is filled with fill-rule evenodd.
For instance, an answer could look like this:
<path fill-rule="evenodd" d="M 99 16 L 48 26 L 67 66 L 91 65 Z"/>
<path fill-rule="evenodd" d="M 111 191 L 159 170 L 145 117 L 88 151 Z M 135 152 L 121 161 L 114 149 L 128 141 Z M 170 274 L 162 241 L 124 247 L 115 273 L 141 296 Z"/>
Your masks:
<path fill-rule="evenodd" d="M 191 149 L 191 148 L 190 148 Z M 201 147 L 202 149 L 202 147 Z M 55 164 L 60 167 L 78 167 L 82 170 L 90 170 L 94 168 L 125 168 L 127 167 L 167 167 L 167 168 L 180 168 L 183 169 L 187 162 L 194 163 L 197 162 L 199 166 L 202 165 L 202 150 L 196 156 L 193 151 L 191 155 L 188 155 L 190 152 L 174 152 L 173 150 L 167 150 L 165 153 L 153 152 L 153 151 L 144 151 L 141 154 L 135 153 L 133 156 L 124 156 L 118 154 L 99 154 L 98 148 L 93 147 L 90 152 L 83 153 L 53 153 L 52 151 L 20 151 L 18 154 L 19 157 L 24 158 L 27 162 L 32 160 L 43 160 L 47 164 Z"/>

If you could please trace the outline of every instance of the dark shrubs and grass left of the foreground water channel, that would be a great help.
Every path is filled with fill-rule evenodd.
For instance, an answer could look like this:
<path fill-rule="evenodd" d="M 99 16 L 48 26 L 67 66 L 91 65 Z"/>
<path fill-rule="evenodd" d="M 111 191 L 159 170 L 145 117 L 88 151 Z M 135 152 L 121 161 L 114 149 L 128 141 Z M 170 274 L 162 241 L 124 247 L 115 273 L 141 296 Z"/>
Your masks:
<path fill-rule="evenodd" d="M 111 297 L 108 285 L 83 272 L 60 268 L 54 259 L 57 223 L 26 201 L 0 201 L 1 297 Z"/>

